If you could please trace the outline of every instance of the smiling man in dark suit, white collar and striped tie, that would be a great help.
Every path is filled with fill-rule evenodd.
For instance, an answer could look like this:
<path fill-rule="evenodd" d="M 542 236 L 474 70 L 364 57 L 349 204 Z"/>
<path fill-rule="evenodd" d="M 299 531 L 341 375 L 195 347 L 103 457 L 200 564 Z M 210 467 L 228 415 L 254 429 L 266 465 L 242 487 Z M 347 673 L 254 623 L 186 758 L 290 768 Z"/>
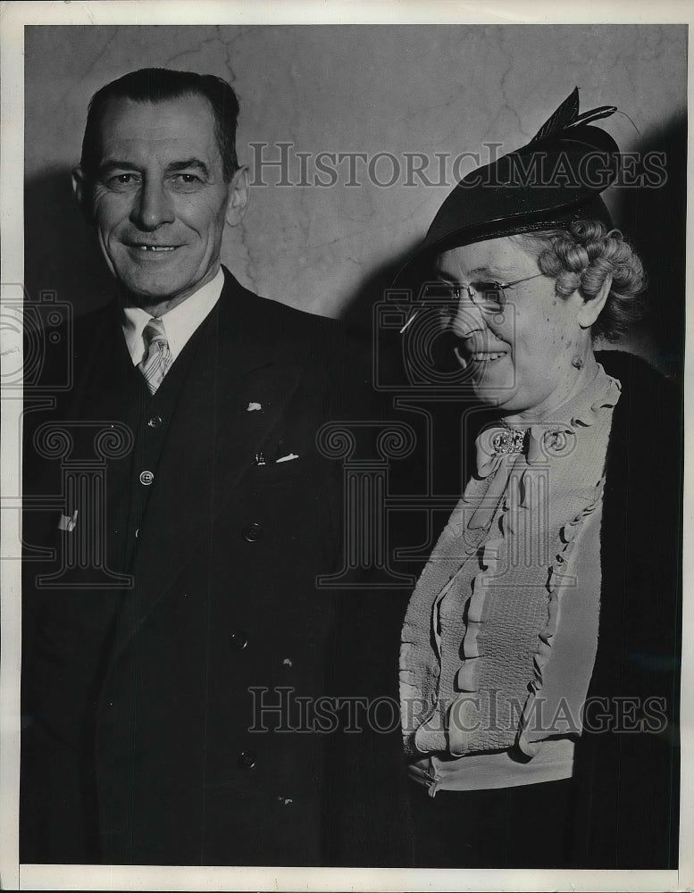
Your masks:
<path fill-rule="evenodd" d="M 323 690 L 339 510 L 315 438 L 346 361 L 336 323 L 220 264 L 237 114 L 224 81 L 159 69 L 89 107 L 74 190 L 118 297 L 26 426 L 24 539 L 53 561 L 25 563 L 22 862 L 321 862 L 324 736 L 273 707 Z"/>

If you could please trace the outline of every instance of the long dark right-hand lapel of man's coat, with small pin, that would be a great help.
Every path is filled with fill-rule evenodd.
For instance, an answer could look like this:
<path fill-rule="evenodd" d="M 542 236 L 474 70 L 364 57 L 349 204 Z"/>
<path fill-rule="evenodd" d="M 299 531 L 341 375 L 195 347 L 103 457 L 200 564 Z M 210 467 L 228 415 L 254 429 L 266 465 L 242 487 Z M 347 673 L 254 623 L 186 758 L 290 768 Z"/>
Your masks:
<path fill-rule="evenodd" d="M 215 517 L 253 468 L 297 388 L 302 368 L 275 359 L 272 333 L 255 313 L 262 301 L 227 274 L 220 302 L 196 338 L 143 515 L 120 647 L 191 556 L 211 546 Z M 252 403 L 261 410 L 249 411 Z"/>

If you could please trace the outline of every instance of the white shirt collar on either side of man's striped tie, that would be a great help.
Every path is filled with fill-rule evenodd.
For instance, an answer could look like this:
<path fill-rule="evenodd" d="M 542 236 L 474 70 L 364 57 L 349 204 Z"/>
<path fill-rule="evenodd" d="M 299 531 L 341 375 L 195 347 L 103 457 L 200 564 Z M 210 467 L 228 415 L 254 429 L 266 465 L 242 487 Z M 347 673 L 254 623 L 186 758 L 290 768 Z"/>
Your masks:
<path fill-rule="evenodd" d="M 206 282 L 202 288 L 198 288 L 168 313 L 163 314 L 161 319 L 166 338 L 169 341 L 171 361 L 176 359 L 193 332 L 213 309 L 222 294 L 223 287 L 224 273 L 220 267 L 212 280 Z M 123 335 L 133 365 L 137 365 L 146 357 L 146 345 L 142 332 L 151 319 L 152 316 L 141 307 L 123 308 Z"/>

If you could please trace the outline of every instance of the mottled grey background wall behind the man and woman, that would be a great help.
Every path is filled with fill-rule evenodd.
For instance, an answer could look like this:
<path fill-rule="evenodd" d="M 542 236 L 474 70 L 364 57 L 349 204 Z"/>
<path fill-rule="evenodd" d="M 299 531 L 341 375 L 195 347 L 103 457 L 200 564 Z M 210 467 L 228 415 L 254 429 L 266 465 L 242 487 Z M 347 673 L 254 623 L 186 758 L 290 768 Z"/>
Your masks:
<path fill-rule="evenodd" d="M 241 116 L 238 150 L 255 168 L 242 228 L 223 260 L 249 288 L 338 316 L 371 304 L 422 238 L 450 187 L 406 185 L 406 153 L 452 158 L 482 141 L 508 151 L 526 142 L 574 86 L 581 109 L 615 104 L 605 122 L 625 151 L 665 151 L 659 189 L 615 190 L 616 220 L 648 265 L 657 312 L 631 346 L 672 371 L 681 347 L 686 183 L 686 26 L 440 25 L 164 27 L 41 26 L 26 29 L 26 282 L 32 297 L 56 290 L 79 312 L 103 303 L 108 280 L 71 201 L 88 99 L 106 81 L 144 66 L 230 79 Z M 289 186 L 258 170 L 290 143 Z M 388 152 L 394 185 L 372 182 L 366 163 L 336 163 L 337 182 L 314 185 L 320 152 Z M 310 185 L 300 186 L 300 157 Z M 329 164 L 330 166 L 330 164 Z M 470 169 L 471 163 L 464 167 Z M 375 179 L 392 179 L 381 158 Z M 452 171 L 447 170 L 450 181 Z M 86 290 L 85 290 L 86 283 Z"/>

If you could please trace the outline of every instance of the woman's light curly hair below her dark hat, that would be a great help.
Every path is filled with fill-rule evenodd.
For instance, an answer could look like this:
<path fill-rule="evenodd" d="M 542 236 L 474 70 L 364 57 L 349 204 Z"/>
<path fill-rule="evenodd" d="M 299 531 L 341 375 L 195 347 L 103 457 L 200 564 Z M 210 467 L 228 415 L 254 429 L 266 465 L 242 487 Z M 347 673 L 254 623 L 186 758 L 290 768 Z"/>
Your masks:
<path fill-rule="evenodd" d="M 598 295 L 607 275 L 612 287 L 605 307 L 592 327 L 593 336 L 616 341 L 643 310 L 639 296 L 646 287 L 643 264 L 619 230 L 607 230 L 596 220 L 577 220 L 565 230 L 544 230 L 512 236 L 536 258 L 539 269 L 556 279 L 556 294 L 584 300 Z"/>

